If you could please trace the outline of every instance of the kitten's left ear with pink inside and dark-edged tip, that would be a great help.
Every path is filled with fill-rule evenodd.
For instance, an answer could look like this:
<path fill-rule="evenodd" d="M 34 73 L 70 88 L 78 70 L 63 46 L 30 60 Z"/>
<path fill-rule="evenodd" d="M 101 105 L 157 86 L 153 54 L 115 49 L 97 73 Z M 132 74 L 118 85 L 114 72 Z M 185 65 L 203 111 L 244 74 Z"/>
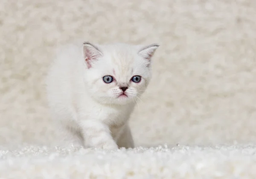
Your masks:
<path fill-rule="evenodd" d="M 103 56 L 102 52 L 99 51 L 98 47 L 91 44 L 90 42 L 84 42 L 83 55 L 84 61 L 86 62 L 88 68 L 92 66 L 92 63 L 94 61 L 96 61 L 99 57 Z"/>

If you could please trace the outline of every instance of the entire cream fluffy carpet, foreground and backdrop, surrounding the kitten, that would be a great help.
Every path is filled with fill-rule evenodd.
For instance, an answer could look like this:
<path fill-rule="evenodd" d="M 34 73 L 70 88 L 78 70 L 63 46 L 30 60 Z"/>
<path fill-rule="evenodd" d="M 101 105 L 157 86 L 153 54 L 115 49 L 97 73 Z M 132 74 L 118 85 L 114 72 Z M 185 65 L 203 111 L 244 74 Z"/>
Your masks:
<path fill-rule="evenodd" d="M 255 0 L 1 0 L 0 178 L 256 178 L 255 19 Z M 136 149 L 52 125 L 44 78 L 74 40 L 160 44 Z"/>

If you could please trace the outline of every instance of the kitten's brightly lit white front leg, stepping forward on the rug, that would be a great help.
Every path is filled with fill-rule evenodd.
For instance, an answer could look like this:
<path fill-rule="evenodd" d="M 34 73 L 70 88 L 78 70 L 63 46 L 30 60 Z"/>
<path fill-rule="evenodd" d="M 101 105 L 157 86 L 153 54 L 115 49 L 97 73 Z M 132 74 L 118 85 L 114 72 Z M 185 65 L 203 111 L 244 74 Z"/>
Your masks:
<path fill-rule="evenodd" d="M 101 121 L 82 121 L 81 130 L 84 137 L 84 147 L 96 147 L 106 150 L 118 149 L 108 126 Z"/>

